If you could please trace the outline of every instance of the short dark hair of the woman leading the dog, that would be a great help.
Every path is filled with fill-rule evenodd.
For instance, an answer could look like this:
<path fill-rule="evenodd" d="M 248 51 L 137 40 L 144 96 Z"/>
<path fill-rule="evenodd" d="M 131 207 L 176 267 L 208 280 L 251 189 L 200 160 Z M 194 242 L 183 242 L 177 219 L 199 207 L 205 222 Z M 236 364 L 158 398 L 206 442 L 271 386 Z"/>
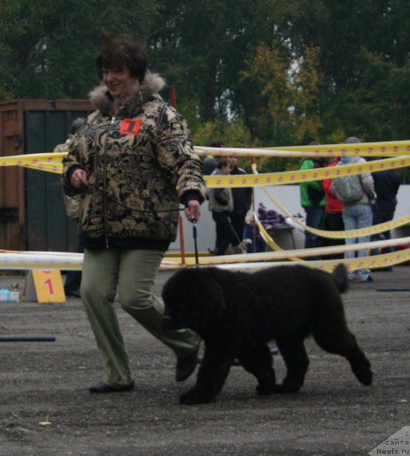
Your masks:
<path fill-rule="evenodd" d="M 144 46 L 128 35 L 111 36 L 103 30 L 99 36 L 100 55 L 96 64 L 98 76 L 102 79 L 102 67 L 130 68 L 131 76 L 137 76 L 140 82 L 147 73 L 148 58 Z"/>

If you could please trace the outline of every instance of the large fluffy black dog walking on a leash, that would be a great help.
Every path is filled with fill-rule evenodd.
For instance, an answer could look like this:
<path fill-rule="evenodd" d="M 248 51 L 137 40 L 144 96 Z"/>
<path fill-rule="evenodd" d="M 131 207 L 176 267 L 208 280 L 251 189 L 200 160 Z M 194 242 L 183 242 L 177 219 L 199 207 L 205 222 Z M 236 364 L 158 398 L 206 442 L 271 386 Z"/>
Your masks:
<path fill-rule="evenodd" d="M 308 371 L 303 341 L 310 334 L 323 350 L 344 356 L 357 379 L 370 385 L 370 363 L 347 328 L 340 296 L 348 284 L 343 264 L 332 274 L 299 265 L 252 274 L 216 267 L 177 271 L 162 291 L 164 325 L 191 328 L 205 345 L 196 384 L 179 403 L 214 400 L 235 358 L 255 375 L 258 394 L 297 392 Z M 287 369 L 280 384 L 267 345 L 273 340 Z"/>

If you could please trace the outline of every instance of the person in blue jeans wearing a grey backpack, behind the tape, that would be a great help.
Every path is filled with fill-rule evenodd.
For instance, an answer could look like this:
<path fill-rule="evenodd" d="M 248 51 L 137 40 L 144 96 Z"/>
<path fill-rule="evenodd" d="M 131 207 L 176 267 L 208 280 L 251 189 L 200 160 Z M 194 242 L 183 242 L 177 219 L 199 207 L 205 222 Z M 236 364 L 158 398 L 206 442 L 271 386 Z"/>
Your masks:
<path fill-rule="evenodd" d="M 346 144 L 354 144 L 360 140 L 354 136 L 347 138 Z M 355 165 L 365 163 L 363 157 L 342 157 L 337 166 Z M 353 178 L 353 179 L 352 179 Z M 373 223 L 372 205 L 376 201 L 374 192 L 374 180 L 370 172 L 361 175 L 343 176 L 332 179 L 332 193 L 340 199 L 343 204 L 343 223 L 345 231 L 349 229 L 362 229 L 371 227 Z M 370 235 L 346 238 L 346 244 L 356 244 L 358 242 L 369 242 Z M 345 259 L 357 257 L 367 257 L 366 250 L 359 252 L 345 252 Z M 362 268 L 349 271 L 349 279 L 359 282 L 373 281 L 370 269 Z"/>

